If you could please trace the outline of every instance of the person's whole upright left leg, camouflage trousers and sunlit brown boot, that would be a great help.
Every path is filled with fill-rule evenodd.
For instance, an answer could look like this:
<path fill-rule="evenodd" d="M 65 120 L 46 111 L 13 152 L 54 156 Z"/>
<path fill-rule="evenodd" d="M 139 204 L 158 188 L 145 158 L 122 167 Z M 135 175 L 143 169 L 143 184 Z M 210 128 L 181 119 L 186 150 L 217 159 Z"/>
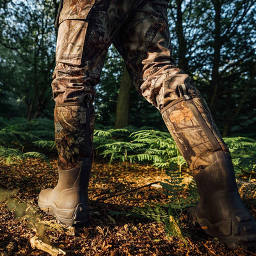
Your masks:
<path fill-rule="evenodd" d="M 134 3 L 97 0 L 92 7 L 92 1 L 88 6 L 63 1 L 52 81 L 59 180 L 54 189 L 40 192 L 38 205 L 67 225 L 89 219 L 94 86 L 100 81 L 108 47 Z M 87 7 L 92 9 L 86 18 L 81 13 L 87 15 Z"/>

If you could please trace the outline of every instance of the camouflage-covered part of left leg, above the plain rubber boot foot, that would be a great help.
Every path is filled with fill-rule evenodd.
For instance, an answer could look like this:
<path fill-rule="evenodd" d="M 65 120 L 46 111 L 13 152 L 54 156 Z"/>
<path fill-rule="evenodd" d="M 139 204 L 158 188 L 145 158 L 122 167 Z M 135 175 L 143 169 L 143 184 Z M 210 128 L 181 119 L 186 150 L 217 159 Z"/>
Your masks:
<path fill-rule="evenodd" d="M 66 2 L 68 1 L 63 3 L 64 13 L 69 13 Z M 98 0 L 90 10 L 90 17 L 84 20 L 67 19 L 60 24 L 52 91 L 56 101 L 56 143 L 61 168 L 74 167 L 85 156 L 92 155 L 92 147 L 89 150 L 88 145 L 84 144 L 84 141 L 90 141 L 89 144 L 92 145 L 92 129 L 90 132 L 80 131 L 84 130 L 85 119 L 86 124 L 90 123 L 88 127 L 93 127 L 94 87 L 100 82 L 100 72 L 108 47 L 135 4 L 136 0 L 129 3 Z M 74 6 L 72 10 L 73 8 Z M 63 20 L 62 12 L 60 20 Z M 70 17 L 70 14 L 67 16 Z M 79 118 L 84 118 L 84 122 Z M 69 119 L 76 124 L 68 124 Z M 67 131 L 67 136 L 68 129 L 70 131 Z M 70 150 L 72 147 L 78 153 Z"/>

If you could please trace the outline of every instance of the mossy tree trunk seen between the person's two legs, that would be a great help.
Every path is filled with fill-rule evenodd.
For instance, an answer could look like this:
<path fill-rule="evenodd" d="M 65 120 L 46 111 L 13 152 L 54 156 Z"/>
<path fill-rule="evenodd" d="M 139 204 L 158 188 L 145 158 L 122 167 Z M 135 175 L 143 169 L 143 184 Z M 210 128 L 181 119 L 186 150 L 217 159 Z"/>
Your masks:
<path fill-rule="evenodd" d="M 116 104 L 115 128 L 123 128 L 129 124 L 129 105 L 132 81 L 127 68 L 124 68 Z"/>

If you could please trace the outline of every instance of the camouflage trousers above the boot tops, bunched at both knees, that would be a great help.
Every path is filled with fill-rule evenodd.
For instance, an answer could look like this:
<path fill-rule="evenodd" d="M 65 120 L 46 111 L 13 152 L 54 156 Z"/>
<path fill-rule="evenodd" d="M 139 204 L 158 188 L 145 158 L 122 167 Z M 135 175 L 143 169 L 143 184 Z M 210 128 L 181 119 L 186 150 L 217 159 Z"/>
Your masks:
<path fill-rule="evenodd" d="M 67 3 L 63 0 L 63 6 L 68 6 Z M 83 93 L 95 95 L 94 86 L 100 82 L 108 47 L 113 43 L 141 95 L 159 108 L 156 95 L 164 79 L 170 76 L 182 81 L 188 79 L 173 64 L 167 6 L 167 0 L 97 0 L 83 19 L 72 15 L 75 20 L 69 14 L 74 5 L 70 6 L 70 12 L 62 9 L 52 81 L 56 103 L 83 102 Z M 168 98 L 175 89 L 165 84 L 163 95 Z M 168 104 L 171 100 L 163 101 Z"/>

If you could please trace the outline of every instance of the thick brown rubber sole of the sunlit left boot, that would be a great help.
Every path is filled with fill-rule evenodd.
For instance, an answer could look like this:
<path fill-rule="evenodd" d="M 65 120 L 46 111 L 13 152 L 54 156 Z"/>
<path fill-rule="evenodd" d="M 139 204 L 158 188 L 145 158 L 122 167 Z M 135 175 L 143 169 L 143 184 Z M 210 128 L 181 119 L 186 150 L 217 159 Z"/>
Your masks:
<path fill-rule="evenodd" d="M 90 221 L 89 208 L 86 204 L 77 204 L 77 207 L 73 209 L 60 209 L 56 204 L 43 204 L 38 200 L 38 206 L 47 215 L 56 216 L 61 223 L 68 227 L 85 225 Z M 63 212 L 63 214 L 60 214 L 60 212 Z M 65 218 L 65 213 L 71 215 L 72 218 Z"/>

